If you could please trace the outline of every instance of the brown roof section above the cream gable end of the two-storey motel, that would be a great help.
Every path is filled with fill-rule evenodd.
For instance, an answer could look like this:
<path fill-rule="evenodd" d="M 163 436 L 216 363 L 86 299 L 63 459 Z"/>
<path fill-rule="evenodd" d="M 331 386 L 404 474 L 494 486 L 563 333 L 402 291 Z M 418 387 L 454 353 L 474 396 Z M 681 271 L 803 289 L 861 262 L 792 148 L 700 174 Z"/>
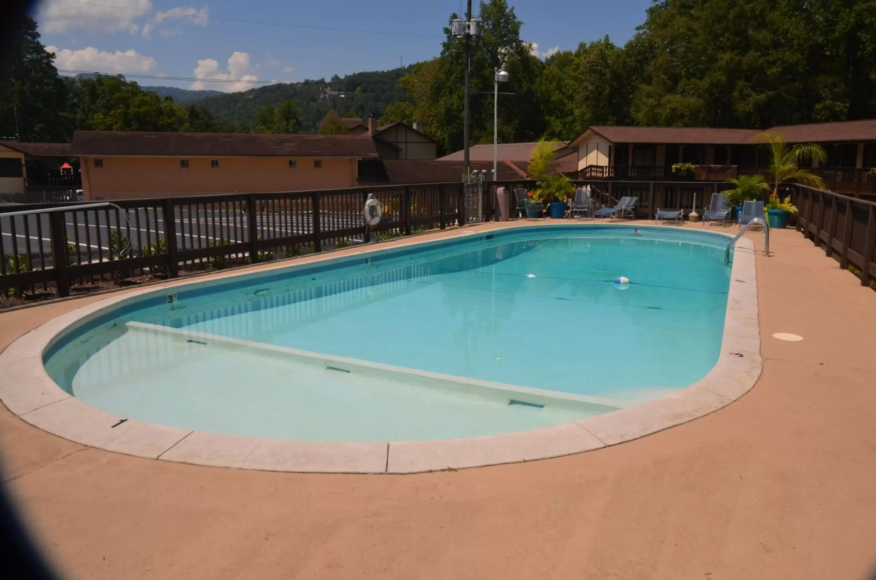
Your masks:
<path fill-rule="evenodd" d="M 604 136 L 612 143 L 706 143 L 719 145 L 756 143 L 755 136 L 760 132 L 758 129 L 612 127 L 611 125 L 594 125 L 590 127 L 590 130 Z"/>

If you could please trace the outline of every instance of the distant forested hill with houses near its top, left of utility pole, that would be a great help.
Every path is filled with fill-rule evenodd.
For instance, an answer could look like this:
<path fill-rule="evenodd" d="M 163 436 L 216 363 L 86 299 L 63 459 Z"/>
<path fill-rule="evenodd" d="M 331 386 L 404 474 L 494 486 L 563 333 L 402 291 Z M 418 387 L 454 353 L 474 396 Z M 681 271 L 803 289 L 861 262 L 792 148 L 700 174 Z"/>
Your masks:
<path fill-rule="evenodd" d="M 279 106 L 284 101 L 293 101 L 301 113 L 301 131 L 315 133 L 322 117 L 334 108 L 340 115 L 355 115 L 367 118 L 379 117 L 393 102 L 405 99 L 399 79 L 411 72 L 412 67 L 391 71 L 355 73 L 331 80 L 305 80 L 289 85 L 269 85 L 252 88 L 242 93 L 228 93 L 199 101 L 216 119 L 235 126 L 248 124 L 258 110 L 270 105 Z M 330 96 L 320 99 L 323 91 L 341 92 L 345 96 Z"/>

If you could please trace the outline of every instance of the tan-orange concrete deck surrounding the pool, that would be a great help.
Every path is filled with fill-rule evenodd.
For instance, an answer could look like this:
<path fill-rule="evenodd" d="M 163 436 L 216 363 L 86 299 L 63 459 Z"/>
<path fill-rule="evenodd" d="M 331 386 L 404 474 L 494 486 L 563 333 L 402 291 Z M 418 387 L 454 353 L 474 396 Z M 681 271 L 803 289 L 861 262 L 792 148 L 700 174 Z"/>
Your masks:
<path fill-rule="evenodd" d="M 4 477 L 70 577 L 862 577 L 876 294 L 792 230 L 772 249 L 755 388 L 626 444 L 408 476 L 246 472 L 73 444 L 4 409 Z M 101 298 L 4 313 L 0 348 Z"/>

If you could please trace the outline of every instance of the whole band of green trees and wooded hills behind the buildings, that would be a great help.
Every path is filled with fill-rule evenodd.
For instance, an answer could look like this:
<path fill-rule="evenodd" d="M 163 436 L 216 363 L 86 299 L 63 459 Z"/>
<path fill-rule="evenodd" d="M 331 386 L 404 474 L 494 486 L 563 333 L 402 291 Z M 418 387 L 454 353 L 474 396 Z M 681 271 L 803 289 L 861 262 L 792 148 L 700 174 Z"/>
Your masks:
<path fill-rule="evenodd" d="M 582 9 L 583 10 L 583 9 Z M 471 66 L 471 142 L 571 139 L 592 124 L 763 129 L 876 118 L 876 0 L 657 0 L 625 43 L 530 52 L 506 0 L 479 3 Z M 449 14 L 450 18 L 456 14 Z M 557 15 L 562 17 L 562 15 Z M 69 140 L 74 129 L 314 133 L 329 108 L 420 122 L 442 151 L 463 146 L 463 45 L 414 66 L 271 85 L 182 106 L 117 76 L 60 79 L 29 20 L 0 60 L 0 136 Z M 325 92 L 329 92 L 328 98 Z M 331 95 L 331 93 L 341 92 Z M 18 120 L 18 129 L 16 129 Z"/>

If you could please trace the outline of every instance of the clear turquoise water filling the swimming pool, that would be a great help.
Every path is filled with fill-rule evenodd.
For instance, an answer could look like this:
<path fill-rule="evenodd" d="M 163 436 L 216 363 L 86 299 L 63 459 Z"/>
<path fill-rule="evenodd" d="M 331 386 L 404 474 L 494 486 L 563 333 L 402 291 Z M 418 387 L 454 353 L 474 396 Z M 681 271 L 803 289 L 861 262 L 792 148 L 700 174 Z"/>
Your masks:
<path fill-rule="evenodd" d="M 96 320 L 53 349 L 62 388 L 123 416 L 318 440 L 533 429 L 604 408 L 521 408 L 204 348 L 137 321 L 572 395 L 617 407 L 687 387 L 717 362 L 730 269 L 723 236 L 528 227 L 180 290 Z M 366 257 L 367 262 L 366 262 Z M 631 283 L 613 282 L 625 276 Z"/>

